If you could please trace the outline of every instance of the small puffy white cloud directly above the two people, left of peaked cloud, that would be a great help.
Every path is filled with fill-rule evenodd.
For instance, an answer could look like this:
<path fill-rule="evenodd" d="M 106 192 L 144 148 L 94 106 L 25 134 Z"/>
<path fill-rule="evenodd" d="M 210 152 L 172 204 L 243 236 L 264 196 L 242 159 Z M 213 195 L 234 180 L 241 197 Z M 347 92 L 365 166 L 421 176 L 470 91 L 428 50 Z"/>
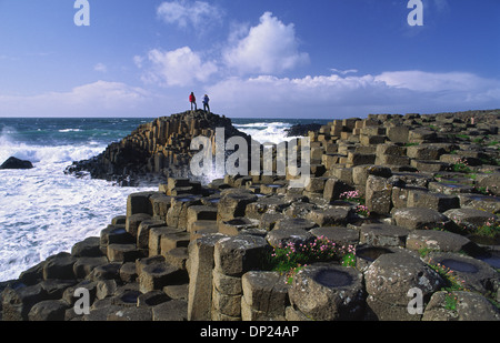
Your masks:
<path fill-rule="evenodd" d="M 148 53 L 150 67 L 143 75 L 146 82 L 161 85 L 190 85 L 204 82 L 218 71 L 214 62 L 202 62 L 201 57 L 189 47 L 172 51 L 150 50 Z M 136 63 L 142 60 L 136 58 Z"/>

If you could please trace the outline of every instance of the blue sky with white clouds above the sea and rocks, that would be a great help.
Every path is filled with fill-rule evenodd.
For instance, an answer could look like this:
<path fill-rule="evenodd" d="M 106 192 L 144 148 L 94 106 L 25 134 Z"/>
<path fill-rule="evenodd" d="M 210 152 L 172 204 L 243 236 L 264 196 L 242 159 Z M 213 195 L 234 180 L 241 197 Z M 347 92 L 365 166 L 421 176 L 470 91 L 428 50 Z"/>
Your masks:
<path fill-rule="evenodd" d="M 500 108 L 500 1 L 0 0 L 0 117 L 231 118 Z"/>

